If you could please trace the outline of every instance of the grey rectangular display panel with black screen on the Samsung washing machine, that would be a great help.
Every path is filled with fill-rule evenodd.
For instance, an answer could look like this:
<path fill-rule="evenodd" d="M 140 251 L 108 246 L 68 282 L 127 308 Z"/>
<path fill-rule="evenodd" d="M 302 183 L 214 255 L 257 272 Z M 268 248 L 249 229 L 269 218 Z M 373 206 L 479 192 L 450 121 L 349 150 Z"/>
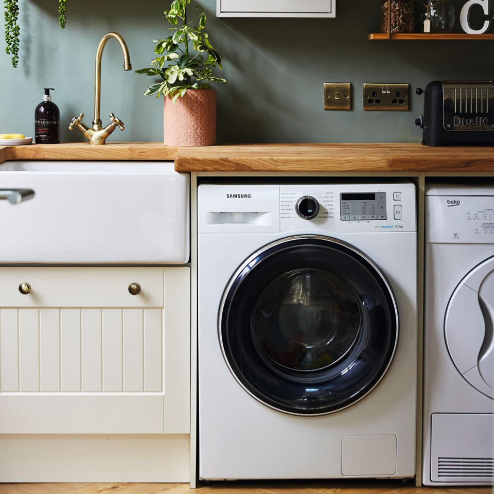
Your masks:
<path fill-rule="evenodd" d="M 387 220 L 386 192 L 341 192 L 340 220 Z"/>

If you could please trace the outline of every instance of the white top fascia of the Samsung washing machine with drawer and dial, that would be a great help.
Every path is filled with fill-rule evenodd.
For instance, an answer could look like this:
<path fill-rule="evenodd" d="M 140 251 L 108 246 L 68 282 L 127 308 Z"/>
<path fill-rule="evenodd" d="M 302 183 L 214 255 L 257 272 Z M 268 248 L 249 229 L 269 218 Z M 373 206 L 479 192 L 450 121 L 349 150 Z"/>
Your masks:
<path fill-rule="evenodd" d="M 415 186 L 201 184 L 199 233 L 416 232 Z"/>

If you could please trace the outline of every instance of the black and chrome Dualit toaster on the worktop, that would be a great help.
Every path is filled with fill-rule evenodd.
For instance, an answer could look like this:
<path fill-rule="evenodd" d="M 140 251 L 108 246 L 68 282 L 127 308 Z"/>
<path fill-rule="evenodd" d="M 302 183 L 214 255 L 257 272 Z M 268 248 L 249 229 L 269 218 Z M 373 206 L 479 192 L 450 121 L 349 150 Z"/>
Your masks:
<path fill-rule="evenodd" d="M 493 146 L 494 82 L 433 81 L 425 92 L 424 115 L 415 120 L 424 129 L 426 146 Z"/>

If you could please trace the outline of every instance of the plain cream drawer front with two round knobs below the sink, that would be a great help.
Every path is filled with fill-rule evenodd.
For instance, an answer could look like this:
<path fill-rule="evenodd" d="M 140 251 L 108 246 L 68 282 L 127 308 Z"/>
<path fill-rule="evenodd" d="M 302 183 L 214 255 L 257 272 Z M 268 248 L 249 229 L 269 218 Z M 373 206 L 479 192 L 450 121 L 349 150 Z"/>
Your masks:
<path fill-rule="evenodd" d="M 163 268 L 0 268 L 0 307 L 163 307 Z"/>

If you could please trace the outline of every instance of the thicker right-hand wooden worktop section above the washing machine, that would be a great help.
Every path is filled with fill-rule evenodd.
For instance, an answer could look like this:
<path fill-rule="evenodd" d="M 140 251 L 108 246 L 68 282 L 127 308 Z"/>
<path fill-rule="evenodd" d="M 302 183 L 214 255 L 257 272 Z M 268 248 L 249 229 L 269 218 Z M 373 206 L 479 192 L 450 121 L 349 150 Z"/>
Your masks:
<path fill-rule="evenodd" d="M 177 171 L 494 171 L 494 147 L 266 144 L 179 148 Z"/>

